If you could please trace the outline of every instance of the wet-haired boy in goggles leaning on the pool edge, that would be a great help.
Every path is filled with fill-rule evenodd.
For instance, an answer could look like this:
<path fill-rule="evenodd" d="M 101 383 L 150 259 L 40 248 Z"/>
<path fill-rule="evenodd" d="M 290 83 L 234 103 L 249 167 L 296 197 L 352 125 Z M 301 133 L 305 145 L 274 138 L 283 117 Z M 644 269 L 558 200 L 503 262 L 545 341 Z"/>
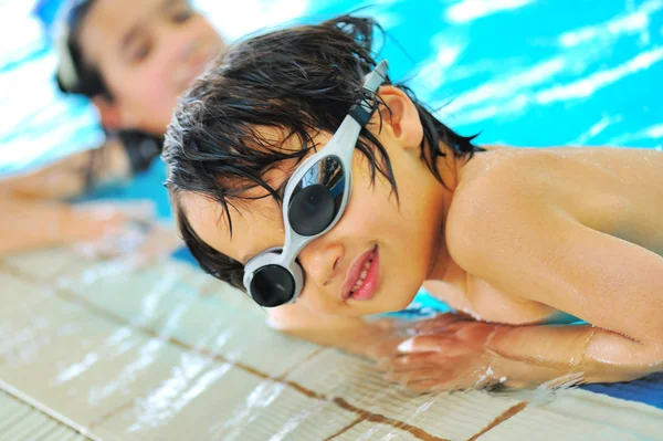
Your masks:
<path fill-rule="evenodd" d="M 480 148 L 390 84 L 372 27 L 245 40 L 180 101 L 164 159 L 201 266 L 418 390 L 661 370 L 663 154 Z M 362 321 L 421 285 L 462 316 Z"/>

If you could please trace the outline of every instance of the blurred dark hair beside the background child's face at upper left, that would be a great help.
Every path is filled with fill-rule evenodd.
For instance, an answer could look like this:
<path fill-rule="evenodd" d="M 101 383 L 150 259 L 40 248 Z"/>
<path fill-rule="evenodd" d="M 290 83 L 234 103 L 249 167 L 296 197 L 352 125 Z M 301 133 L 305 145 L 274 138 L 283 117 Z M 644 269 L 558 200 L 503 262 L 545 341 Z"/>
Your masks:
<path fill-rule="evenodd" d="M 98 69 L 85 59 L 81 44 L 81 29 L 95 3 L 96 0 L 73 0 L 65 7 L 60 18 L 62 34 L 57 38 L 63 41 L 57 45 L 60 60 L 55 80 L 64 93 L 113 99 Z"/>

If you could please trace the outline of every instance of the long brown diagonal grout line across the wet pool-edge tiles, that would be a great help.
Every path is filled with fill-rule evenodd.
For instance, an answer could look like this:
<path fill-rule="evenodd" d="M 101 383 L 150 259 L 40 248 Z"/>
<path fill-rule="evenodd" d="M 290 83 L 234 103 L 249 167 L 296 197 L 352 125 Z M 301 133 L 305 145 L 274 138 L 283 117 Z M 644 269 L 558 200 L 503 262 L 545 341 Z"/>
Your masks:
<path fill-rule="evenodd" d="M 46 283 L 48 282 L 48 281 L 39 280 L 31 274 L 25 274 L 18 269 L 14 269 L 12 266 L 4 264 L 4 262 L 2 262 L 2 261 L 0 261 L 0 270 L 6 270 L 11 275 L 22 279 L 29 283 Z M 130 326 L 134 330 L 140 332 L 152 338 L 168 342 L 168 343 L 172 344 L 173 346 L 177 346 L 180 349 L 183 349 L 186 351 L 196 353 L 196 354 L 204 355 L 208 357 L 211 356 L 217 361 L 230 364 L 230 365 L 235 366 L 236 368 L 242 369 L 249 374 L 253 374 L 254 376 L 256 376 L 259 378 L 262 378 L 265 380 L 272 380 L 275 382 L 281 382 L 283 385 L 290 386 L 291 388 L 297 390 L 298 392 L 303 393 L 304 396 L 306 396 L 308 398 L 317 399 L 320 401 L 334 402 L 336 406 L 340 407 L 341 409 L 350 411 L 352 413 L 357 413 L 358 416 L 360 416 L 361 418 L 365 418 L 368 421 L 379 422 L 382 424 L 391 426 L 394 429 L 401 429 L 403 431 L 410 432 L 412 435 L 419 438 L 422 441 L 450 441 L 450 440 L 446 440 L 443 438 L 435 437 L 419 427 L 408 424 L 403 421 L 388 418 L 388 417 L 385 417 L 385 416 L 381 416 L 378 413 L 372 413 L 372 412 L 369 412 L 368 410 L 364 410 L 358 407 L 355 407 L 355 406 L 348 403 L 346 400 L 344 400 L 340 397 L 333 397 L 333 398 L 326 397 L 323 393 L 317 393 L 317 392 L 315 392 L 311 389 L 307 389 L 304 386 L 298 385 L 294 381 L 287 381 L 284 379 L 274 378 L 274 377 L 269 376 L 265 372 L 262 372 L 259 369 L 255 369 L 251 366 L 244 365 L 243 363 L 230 360 L 230 359 L 225 358 L 224 356 L 222 356 L 221 354 L 217 354 L 217 353 L 207 350 L 204 348 L 193 347 L 193 346 L 187 344 L 186 342 L 179 340 L 172 336 L 160 336 L 159 334 L 157 334 L 155 332 L 155 329 L 151 329 L 151 328 L 148 328 L 145 326 L 133 325 L 131 323 L 127 322 L 123 317 L 118 317 L 115 314 L 98 307 L 97 305 L 88 302 L 87 300 L 85 300 L 83 297 L 77 296 L 75 293 L 70 292 L 66 288 L 55 288 L 54 291 L 55 291 L 55 295 L 61 297 L 62 300 L 65 300 L 69 302 L 75 302 L 75 303 L 82 305 L 83 307 L 85 307 L 91 313 L 102 316 L 110 322 L 114 322 L 114 323 L 120 325 L 120 326 Z M 128 403 L 123 405 L 123 407 L 127 407 L 127 406 L 128 406 Z M 115 409 L 113 411 L 110 411 L 109 413 L 114 413 L 114 412 L 115 412 Z M 107 420 L 107 418 L 109 416 L 110 414 L 103 416 L 102 418 L 95 420 L 95 423 L 97 426 L 103 423 L 104 421 Z"/>

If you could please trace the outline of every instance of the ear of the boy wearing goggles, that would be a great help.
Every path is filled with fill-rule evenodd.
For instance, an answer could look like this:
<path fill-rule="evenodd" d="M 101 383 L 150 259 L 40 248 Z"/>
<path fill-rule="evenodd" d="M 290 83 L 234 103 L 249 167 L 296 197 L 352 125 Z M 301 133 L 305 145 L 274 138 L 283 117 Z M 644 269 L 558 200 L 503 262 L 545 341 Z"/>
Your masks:
<path fill-rule="evenodd" d="M 412 99 L 394 86 L 381 86 L 378 95 L 388 107 L 380 108 L 382 123 L 391 128 L 396 140 L 406 148 L 419 147 L 423 140 L 423 126 Z"/>

